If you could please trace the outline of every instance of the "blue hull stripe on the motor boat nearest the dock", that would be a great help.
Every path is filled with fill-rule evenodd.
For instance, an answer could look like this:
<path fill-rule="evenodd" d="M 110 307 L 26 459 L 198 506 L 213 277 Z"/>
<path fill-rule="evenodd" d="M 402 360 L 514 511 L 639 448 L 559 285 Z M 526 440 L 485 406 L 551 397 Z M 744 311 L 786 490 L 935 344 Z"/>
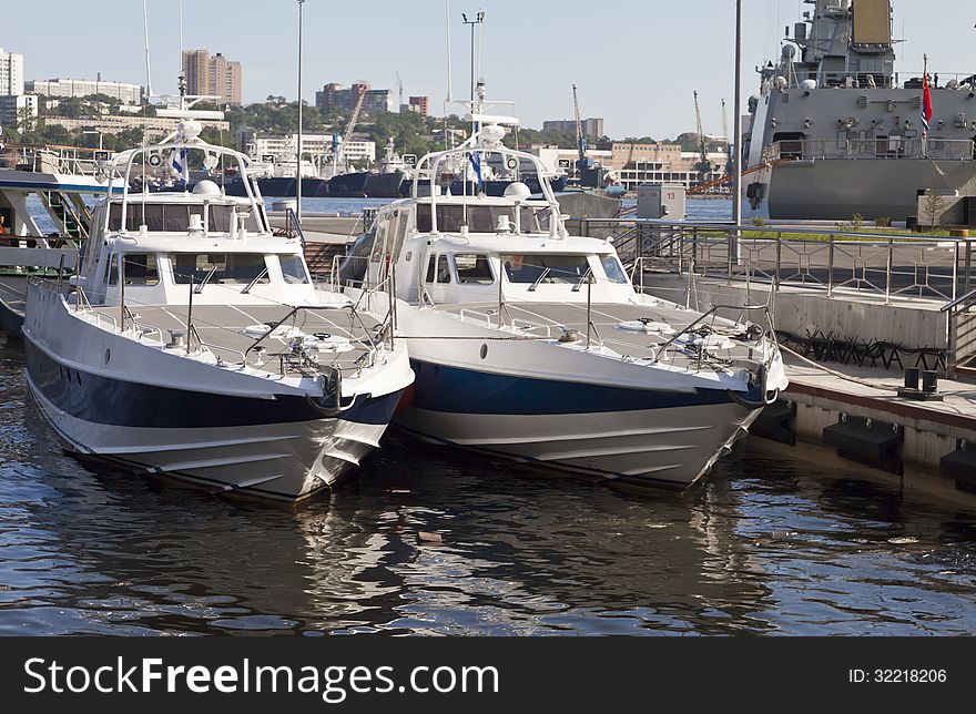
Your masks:
<path fill-rule="evenodd" d="M 692 392 L 628 389 L 495 375 L 410 360 L 414 407 L 447 414 L 571 415 L 704 407 L 732 401 L 724 389 Z"/>

